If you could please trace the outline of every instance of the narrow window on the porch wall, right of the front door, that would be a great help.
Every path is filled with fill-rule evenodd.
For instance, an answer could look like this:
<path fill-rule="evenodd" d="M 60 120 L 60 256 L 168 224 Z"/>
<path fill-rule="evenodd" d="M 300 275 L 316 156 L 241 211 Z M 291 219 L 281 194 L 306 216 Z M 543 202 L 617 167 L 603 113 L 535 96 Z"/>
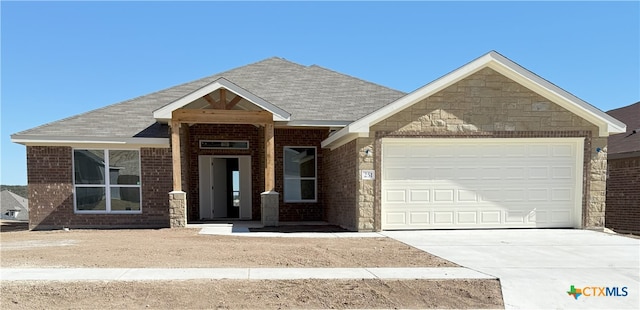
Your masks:
<path fill-rule="evenodd" d="M 284 148 L 284 201 L 316 201 L 316 148 Z"/>

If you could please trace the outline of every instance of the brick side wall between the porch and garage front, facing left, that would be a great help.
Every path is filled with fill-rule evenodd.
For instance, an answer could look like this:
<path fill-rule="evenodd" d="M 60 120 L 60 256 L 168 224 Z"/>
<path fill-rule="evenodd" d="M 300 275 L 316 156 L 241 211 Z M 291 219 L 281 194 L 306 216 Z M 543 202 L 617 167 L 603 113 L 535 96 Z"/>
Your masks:
<path fill-rule="evenodd" d="M 323 151 L 326 220 L 349 230 L 358 230 L 356 141 L 351 141 L 335 150 Z"/>

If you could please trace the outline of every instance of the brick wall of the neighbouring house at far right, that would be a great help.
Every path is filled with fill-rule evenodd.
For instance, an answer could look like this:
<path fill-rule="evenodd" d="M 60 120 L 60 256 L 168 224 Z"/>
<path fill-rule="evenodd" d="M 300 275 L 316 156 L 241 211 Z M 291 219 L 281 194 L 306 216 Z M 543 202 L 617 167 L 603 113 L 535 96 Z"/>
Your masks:
<path fill-rule="evenodd" d="M 640 157 L 610 159 L 605 224 L 640 234 Z"/>

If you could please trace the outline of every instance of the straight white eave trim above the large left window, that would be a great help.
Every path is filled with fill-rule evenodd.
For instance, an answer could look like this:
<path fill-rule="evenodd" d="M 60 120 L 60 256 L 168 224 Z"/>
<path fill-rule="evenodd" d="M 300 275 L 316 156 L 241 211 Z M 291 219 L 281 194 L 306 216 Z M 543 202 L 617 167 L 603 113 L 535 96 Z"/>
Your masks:
<path fill-rule="evenodd" d="M 117 137 L 52 137 L 52 136 L 29 136 L 13 135 L 11 142 L 27 146 L 56 146 L 64 145 L 78 148 L 141 148 L 156 147 L 168 148 L 169 138 L 117 138 Z"/>

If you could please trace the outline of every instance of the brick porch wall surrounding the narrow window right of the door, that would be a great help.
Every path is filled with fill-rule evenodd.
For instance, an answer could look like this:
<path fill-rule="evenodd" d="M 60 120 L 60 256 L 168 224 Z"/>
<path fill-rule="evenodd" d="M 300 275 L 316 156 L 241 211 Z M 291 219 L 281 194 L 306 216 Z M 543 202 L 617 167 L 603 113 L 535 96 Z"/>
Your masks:
<path fill-rule="evenodd" d="M 323 149 L 320 146 L 326 139 L 327 129 L 280 129 L 274 132 L 276 159 L 276 192 L 280 193 L 280 221 L 320 221 L 324 219 L 323 210 Z M 317 160 L 317 202 L 284 202 L 284 166 L 283 154 L 285 146 L 315 146 Z"/>

